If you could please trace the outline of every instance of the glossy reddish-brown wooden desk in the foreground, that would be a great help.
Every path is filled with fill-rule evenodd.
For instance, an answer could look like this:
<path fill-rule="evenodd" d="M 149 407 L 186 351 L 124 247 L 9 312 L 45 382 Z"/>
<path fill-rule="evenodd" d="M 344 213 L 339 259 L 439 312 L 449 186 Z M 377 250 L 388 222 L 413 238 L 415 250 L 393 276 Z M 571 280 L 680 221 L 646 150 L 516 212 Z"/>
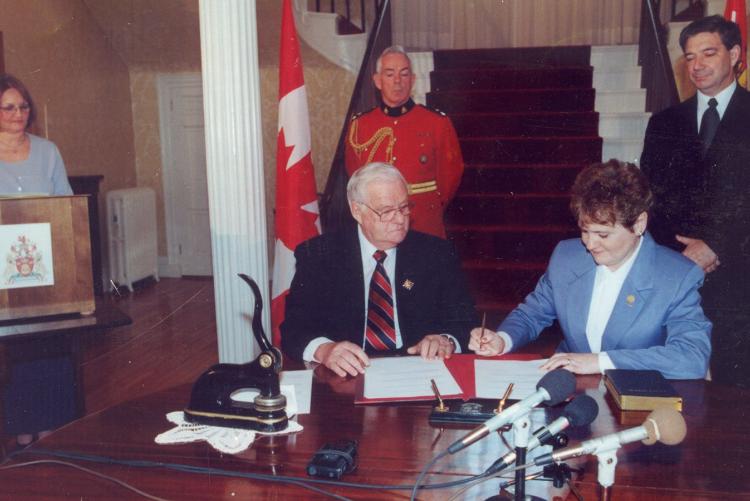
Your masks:
<path fill-rule="evenodd" d="M 158 375 L 154 375 L 158 377 Z M 750 392 L 703 381 L 678 382 L 685 399 L 688 436 L 680 446 L 625 446 L 619 464 L 614 500 L 747 498 L 750 492 Z M 629 428 L 643 416 L 631 416 L 635 424 L 618 423 L 598 376 L 578 378 L 579 391 L 593 396 L 600 414 L 590 430 L 573 430 L 571 443 Z M 342 382 L 318 368 L 313 383 L 312 413 L 300 416 L 305 430 L 297 435 L 263 438 L 236 457 L 222 455 L 205 443 L 159 446 L 154 437 L 171 427 L 164 415 L 183 408 L 190 388 L 181 386 L 115 406 L 87 416 L 37 442 L 30 453 L 13 462 L 44 458 L 34 449 L 78 451 L 118 459 L 183 463 L 239 472 L 294 475 L 307 478 L 308 459 L 324 442 L 341 438 L 359 440 L 359 469 L 347 475 L 353 482 L 410 484 L 422 467 L 465 430 L 440 429 L 427 423 L 430 406 L 354 406 L 352 382 Z M 439 461 L 429 483 L 453 480 L 483 471 L 500 453 L 496 435 Z M 47 457 L 48 458 L 48 457 Z M 271 484 L 218 475 L 203 476 L 166 470 L 137 469 L 78 461 L 87 468 L 114 476 L 167 499 L 327 499 L 290 485 Z M 586 469 L 579 486 L 585 499 L 597 499 L 596 459 L 580 460 Z M 71 468 L 58 465 L 30 466 L 0 471 L 0 499 L 22 496 L 34 499 L 132 498 L 130 491 Z M 496 493 L 496 481 L 474 487 L 460 499 L 484 499 Z M 325 487 L 352 499 L 408 499 L 405 491 L 373 491 Z M 420 499 L 448 499 L 452 491 L 421 491 Z"/>

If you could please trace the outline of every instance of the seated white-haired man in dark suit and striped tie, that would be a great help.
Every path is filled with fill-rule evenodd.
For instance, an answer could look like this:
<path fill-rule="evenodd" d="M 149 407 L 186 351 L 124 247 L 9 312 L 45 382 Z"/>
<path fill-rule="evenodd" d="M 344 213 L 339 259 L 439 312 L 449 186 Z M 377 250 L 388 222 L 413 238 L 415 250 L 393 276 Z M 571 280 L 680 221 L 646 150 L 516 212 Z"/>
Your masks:
<path fill-rule="evenodd" d="M 355 376 L 368 354 L 406 348 L 448 358 L 466 350 L 477 319 L 458 258 L 449 242 L 409 231 L 412 204 L 398 169 L 362 167 L 349 180 L 347 199 L 357 228 L 295 251 L 284 352 Z"/>

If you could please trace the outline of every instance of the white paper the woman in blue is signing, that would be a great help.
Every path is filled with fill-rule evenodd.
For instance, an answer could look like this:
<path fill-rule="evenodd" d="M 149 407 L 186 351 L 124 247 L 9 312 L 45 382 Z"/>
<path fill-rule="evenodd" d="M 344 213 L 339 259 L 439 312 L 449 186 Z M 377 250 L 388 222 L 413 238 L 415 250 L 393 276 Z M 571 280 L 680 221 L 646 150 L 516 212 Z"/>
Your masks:
<path fill-rule="evenodd" d="M 521 400 L 536 391 L 536 384 L 547 371 L 540 369 L 547 359 L 540 360 L 474 360 L 474 386 L 477 398 L 502 398 L 513 383 L 508 397 Z"/>

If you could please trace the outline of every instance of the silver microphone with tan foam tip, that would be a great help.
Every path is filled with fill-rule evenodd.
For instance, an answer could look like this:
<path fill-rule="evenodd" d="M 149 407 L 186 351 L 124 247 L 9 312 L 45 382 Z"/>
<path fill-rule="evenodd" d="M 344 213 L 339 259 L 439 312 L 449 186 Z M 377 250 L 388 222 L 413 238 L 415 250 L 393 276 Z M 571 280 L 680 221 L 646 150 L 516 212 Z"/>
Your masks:
<path fill-rule="evenodd" d="M 677 445 L 685 438 L 687 427 L 685 418 L 674 409 L 656 409 L 648 415 L 641 426 L 630 428 L 617 433 L 611 433 L 599 438 L 592 438 L 581 442 L 576 447 L 566 447 L 550 454 L 544 454 L 534 460 L 537 466 L 559 463 L 566 459 L 576 458 L 587 454 L 599 454 L 618 449 L 621 445 L 640 440 L 646 445 L 661 442 L 666 445 Z"/>

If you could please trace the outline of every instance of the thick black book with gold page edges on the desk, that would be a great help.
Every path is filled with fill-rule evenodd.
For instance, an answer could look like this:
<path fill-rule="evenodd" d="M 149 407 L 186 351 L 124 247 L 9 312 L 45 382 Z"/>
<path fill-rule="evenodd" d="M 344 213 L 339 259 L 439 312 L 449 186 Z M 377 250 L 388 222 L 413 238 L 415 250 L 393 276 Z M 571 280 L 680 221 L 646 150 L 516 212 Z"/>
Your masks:
<path fill-rule="evenodd" d="M 682 397 L 659 371 L 608 369 L 604 385 L 624 411 L 682 410 Z"/>

